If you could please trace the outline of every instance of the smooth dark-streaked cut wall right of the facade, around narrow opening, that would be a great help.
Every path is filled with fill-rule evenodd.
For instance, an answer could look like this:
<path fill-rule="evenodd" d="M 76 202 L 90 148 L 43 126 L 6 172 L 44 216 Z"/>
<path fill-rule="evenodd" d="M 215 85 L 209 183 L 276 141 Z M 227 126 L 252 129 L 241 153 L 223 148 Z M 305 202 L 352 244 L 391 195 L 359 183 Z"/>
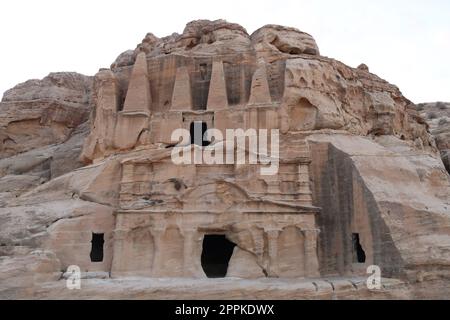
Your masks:
<path fill-rule="evenodd" d="M 322 275 L 365 275 L 378 265 L 385 276 L 403 276 L 403 261 L 395 248 L 378 206 L 352 165 L 348 155 L 327 143 L 312 143 L 313 203 L 322 208 L 319 262 Z M 352 234 L 359 234 L 366 254 L 355 261 Z"/>

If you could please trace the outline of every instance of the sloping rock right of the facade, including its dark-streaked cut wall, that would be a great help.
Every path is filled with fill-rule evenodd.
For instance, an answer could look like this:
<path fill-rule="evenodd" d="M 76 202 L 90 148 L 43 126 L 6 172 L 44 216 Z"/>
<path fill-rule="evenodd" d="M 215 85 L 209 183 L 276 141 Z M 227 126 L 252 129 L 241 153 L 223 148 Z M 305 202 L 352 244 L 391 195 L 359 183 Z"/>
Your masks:
<path fill-rule="evenodd" d="M 352 246 L 342 235 L 358 233 L 374 259 L 368 263 L 385 275 L 449 279 L 450 179 L 438 157 L 393 137 L 311 135 L 308 141 L 316 159 L 314 204 L 323 208 L 321 274 L 358 272 L 351 250 L 342 254 Z"/>

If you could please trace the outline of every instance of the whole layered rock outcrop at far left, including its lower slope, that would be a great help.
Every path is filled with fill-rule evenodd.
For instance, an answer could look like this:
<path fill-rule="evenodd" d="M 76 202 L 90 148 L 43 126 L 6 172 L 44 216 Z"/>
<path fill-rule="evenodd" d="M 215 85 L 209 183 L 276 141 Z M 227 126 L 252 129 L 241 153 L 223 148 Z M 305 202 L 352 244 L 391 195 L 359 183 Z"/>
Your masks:
<path fill-rule="evenodd" d="M 0 203 L 81 167 L 92 78 L 51 73 L 5 92 L 0 102 Z"/>

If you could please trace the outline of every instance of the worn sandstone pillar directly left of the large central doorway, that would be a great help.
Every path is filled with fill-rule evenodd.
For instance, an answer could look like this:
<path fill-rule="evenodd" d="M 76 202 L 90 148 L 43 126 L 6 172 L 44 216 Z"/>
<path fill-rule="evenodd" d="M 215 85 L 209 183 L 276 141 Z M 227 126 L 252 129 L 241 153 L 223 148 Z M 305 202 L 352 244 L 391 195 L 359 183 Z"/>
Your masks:
<path fill-rule="evenodd" d="M 197 229 L 181 231 L 184 238 L 183 275 L 185 277 L 204 278 L 201 266 L 201 237 Z"/>

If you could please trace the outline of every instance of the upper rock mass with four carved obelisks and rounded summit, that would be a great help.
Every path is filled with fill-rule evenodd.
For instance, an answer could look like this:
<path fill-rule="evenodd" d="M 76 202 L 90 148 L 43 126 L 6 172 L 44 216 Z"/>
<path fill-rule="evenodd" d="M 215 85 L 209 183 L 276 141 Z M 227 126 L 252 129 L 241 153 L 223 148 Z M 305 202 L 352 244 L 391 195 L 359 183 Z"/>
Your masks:
<path fill-rule="evenodd" d="M 267 25 L 249 36 L 236 24 L 199 20 L 181 35 L 149 33 L 133 54 L 126 51 L 98 73 L 94 88 L 97 116 L 82 155 L 86 163 L 118 149 L 171 144 L 175 127 L 189 126 L 182 112 L 214 110 L 221 115 L 208 127 L 232 128 L 226 119 L 251 123 L 241 109 L 258 105 L 270 109 L 272 126 L 283 133 L 393 135 L 436 151 L 427 124 L 396 86 L 366 65 L 354 69 L 320 56 L 313 37 L 294 28 Z"/>

